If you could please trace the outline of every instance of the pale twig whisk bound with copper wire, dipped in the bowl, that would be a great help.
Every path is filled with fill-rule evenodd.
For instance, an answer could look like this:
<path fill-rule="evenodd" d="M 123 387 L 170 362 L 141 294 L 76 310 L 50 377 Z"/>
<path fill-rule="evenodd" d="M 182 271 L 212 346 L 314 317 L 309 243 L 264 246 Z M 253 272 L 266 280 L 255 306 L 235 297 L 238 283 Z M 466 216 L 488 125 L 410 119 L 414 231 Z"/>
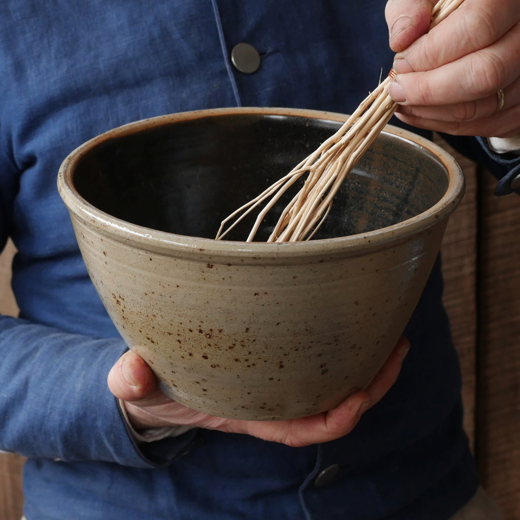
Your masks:
<path fill-rule="evenodd" d="M 432 11 L 430 29 L 446 18 L 463 0 L 439 0 Z M 251 242 L 266 214 L 304 174 L 305 183 L 289 202 L 267 242 L 308 240 L 327 217 L 337 190 L 361 155 L 392 118 L 397 103 L 388 94 L 388 77 L 365 98 L 341 128 L 287 175 L 222 221 L 216 239 L 224 238 L 246 215 L 266 203 L 246 241 Z M 227 227 L 226 227 L 227 226 Z"/>

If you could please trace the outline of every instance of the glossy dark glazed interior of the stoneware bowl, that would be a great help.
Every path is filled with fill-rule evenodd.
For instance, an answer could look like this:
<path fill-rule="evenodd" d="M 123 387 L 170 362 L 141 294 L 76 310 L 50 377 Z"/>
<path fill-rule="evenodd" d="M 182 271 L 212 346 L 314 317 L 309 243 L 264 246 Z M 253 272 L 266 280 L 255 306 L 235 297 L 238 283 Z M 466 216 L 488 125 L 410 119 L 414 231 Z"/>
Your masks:
<path fill-rule="evenodd" d="M 102 142 L 77 164 L 73 183 L 87 202 L 126 222 L 214 238 L 222 219 L 287 174 L 340 125 L 254 113 L 177 121 Z M 347 176 L 314 238 L 397 224 L 432 207 L 447 187 L 435 155 L 384 132 Z M 269 212 L 255 240 L 266 240 L 294 193 Z M 226 239 L 244 240 L 256 215 Z"/>

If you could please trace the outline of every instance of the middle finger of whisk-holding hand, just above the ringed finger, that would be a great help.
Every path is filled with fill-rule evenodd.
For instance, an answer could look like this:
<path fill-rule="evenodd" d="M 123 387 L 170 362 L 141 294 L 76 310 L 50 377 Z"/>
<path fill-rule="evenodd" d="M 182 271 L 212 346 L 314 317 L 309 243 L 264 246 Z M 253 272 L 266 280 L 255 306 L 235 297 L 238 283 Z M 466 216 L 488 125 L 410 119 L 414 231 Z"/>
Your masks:
<path fill-rule="evenodd" d="M 440 26 L 439 26 L 440 27 Z M 520 76 L 520 24 L 486 49 L 438 69 L 397 74 L 389 85 L 402 105 L 443 106 L 494 95 Z"/>

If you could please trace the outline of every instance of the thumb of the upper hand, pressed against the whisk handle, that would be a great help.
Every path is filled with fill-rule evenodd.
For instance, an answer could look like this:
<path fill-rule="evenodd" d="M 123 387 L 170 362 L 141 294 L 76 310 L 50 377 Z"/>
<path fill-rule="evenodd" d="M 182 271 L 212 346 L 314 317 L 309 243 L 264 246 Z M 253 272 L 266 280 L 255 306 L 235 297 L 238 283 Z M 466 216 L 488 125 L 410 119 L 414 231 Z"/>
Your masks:
<path fill-rule="evenodd" d="M 389 0 L 385 6 L 390 48 L 398 53 L 430 27 L 434 0 Z"/>

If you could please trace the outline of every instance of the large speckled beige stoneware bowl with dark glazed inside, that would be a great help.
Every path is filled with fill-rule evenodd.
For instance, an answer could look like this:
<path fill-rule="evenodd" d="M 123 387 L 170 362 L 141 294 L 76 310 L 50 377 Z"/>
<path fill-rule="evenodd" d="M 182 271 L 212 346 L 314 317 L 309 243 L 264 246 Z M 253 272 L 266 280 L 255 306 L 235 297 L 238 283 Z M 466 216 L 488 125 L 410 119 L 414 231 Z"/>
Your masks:
<path fill-rule="evenodd" d="M 453 158 L 388 126 L 313 240 L 244 242 L 220 221 L 344 115 L 217 109 L 138 121 L 63 162 L 58 186 L 111 319 L 164 393 L 228 418 L 331 409 L 366 387 L 424 289 L 464 191 Z M 275 212 L 276 213 L 276 212 Z"/>

